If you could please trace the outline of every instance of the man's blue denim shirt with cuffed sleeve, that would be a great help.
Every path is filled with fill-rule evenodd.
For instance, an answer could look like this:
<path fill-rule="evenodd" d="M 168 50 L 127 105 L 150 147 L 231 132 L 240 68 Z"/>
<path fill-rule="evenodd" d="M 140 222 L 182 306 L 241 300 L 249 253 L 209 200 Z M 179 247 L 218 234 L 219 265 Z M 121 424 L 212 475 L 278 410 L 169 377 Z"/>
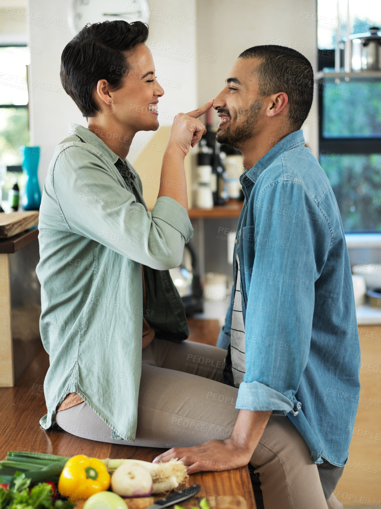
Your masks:
<path fill-rule="evenodd" d="M 236 408 L 286 415 L 315 463 L 343 466 L 360 396 L 360 340 L 335 196 L 301 130 L 240 181 L 233 260 L 238 254 L 246 373 Z M 217 343 L 228 350 L 227 372 L 234 290 Z"/>

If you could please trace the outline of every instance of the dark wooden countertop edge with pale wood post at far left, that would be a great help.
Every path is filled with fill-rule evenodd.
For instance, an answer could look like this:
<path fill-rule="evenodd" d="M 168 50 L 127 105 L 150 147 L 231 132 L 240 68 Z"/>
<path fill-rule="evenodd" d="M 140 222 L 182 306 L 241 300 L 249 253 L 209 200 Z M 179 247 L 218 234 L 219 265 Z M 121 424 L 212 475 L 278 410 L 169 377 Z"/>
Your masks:
<path fill-rule="evenodd" d="M 37 228 L 0 239 L 0 387 L 14 386 L 13 336 L 11 321 L 11 282 L 9 255 L 38 237 Z"/>

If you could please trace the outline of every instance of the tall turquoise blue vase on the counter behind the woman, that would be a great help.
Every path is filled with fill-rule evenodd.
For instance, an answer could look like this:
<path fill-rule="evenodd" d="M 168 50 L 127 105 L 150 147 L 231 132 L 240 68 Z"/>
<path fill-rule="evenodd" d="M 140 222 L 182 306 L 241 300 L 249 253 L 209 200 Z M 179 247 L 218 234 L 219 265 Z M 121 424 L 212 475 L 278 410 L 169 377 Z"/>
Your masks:
<path fill-rule="evenodd" d="M 41 205 L 41 191 L 37 178 L 40 147 L 20 146 L 22 168 L 26 175 L 25 189 L 22 195 L 24 210 L 39 210 Z"/>

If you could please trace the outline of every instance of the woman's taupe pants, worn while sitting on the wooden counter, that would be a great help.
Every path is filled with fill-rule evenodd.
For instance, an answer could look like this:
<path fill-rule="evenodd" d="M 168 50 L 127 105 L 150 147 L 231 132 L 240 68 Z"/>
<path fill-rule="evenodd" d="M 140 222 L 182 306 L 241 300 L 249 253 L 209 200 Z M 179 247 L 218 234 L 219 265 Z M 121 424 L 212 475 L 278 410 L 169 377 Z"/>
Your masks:
<path fill-rule="evenodd" d="M 135 442 L 115 441 L 86 404 L 56 414 L 65 431 L 102 442 L 145 447 L 190 447 L 231 435 L 238 388 L 223 383 L 226 350 L 154 339 L 142 351 Z M 317 466 L 287 417 L 271 415 L 250 463 L 259 473 L 266 509 L 327 509 L 343 467 Z M 328 503 L 330 505 L 330 501 Z"/>

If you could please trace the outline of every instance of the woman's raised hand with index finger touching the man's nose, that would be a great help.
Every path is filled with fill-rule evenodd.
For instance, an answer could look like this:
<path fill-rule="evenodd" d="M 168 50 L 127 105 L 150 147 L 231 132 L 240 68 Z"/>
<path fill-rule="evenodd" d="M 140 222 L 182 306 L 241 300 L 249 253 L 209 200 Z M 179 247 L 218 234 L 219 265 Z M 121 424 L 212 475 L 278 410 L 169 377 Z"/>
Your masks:
<path fill-rule="evenodd" d="M 213 99 L 200 108 L 189 113 L 179 113 L 174 117 L 172 129 L 169 135 L 167 149 L 178 148 L 184 157 L 188 154 L 189 148 L 194 147 L 201 139 L 201 136 L 207 132 L 204 123 L 198 120 L 213 105 Z"/>

